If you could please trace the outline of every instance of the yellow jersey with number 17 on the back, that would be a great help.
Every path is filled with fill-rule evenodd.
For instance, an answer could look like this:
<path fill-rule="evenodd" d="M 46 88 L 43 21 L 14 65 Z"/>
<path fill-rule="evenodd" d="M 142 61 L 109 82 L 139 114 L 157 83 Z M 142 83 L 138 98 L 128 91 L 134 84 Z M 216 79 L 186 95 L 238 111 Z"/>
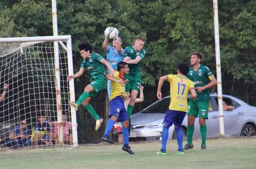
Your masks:
<path fill-rule="evenodd" d="M 167 78 L 171 95 L 169 109 L 187 112 L 187 96 L 189 91 L 195 88 L 194 83 L 184 75 L 167 75 Z"/>

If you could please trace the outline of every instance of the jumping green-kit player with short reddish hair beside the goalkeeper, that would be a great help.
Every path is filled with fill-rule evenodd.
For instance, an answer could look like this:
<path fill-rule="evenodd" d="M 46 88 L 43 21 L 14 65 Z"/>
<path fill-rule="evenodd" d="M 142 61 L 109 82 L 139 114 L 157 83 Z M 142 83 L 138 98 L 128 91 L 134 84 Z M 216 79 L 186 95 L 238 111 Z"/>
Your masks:
<path fill-rule="evenodd" d="M 124 62 L 128 63 L 129 74 L 125 76 L 128 82 L 125 84 L 126 92 L 130 92 L 130 102 L 127 107 L 128 117 L 131 116 L 134 108 L 135 100 L 141 85 L 141 60 L 145 57 L 144 39 L 138 37 L 135 39 L 134 45 L 125 48 Z"/>

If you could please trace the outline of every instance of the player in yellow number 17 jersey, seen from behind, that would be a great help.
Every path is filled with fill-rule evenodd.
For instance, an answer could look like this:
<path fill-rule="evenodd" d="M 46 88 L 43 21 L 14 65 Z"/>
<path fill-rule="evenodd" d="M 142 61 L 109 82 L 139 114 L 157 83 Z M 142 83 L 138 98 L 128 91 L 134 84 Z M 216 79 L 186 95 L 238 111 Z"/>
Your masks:
<path fill-rule="evenodd" d="M 171 102 L 169 109 L 166 112 L 166 116 L 163 120 L 163 132 L 162 132 L 162 147 L 157 155 L 167 155 L 166 143 L 168 140 L 169 127 L 174 124 L 175 132 L 177 135 L 178 151 L 176 154 L 184 154 L 183 150 L 183 132 L 181 124 L 188 110 L 187 96 L 190 91 L 190 99 L 196 98 L 195 87 L 192 81 L 190 81 L 185 74 L 189 71 L 189 66 L 185 63 L 178 65 L 177 75 L 162 76 L 158 82 L 157 98 L 162 99 L 161 88 L 164 81 L 170 83 Z"/>

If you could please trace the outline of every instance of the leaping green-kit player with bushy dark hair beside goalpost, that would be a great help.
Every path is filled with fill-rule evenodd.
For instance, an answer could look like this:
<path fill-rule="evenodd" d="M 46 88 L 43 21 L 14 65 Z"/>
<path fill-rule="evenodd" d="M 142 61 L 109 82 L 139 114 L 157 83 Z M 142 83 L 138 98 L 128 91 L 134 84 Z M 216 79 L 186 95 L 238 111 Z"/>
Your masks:
<path fill-rule="evenodd" d="M 83 75 L 85 68 L 88 69 L 92 82 L 84 88 L 84 92 L 80 95 L 76 102 L 71 102 L 70 105 L 78 110 L 79 106 L 82 105 L 85 110 L 87 110 L 90 115 L 93 116 L 96 121 L 95 130 L 98 130 L 102 124 L 103 118 L 100 118 L 93 106 L 89 103 L 92 97 L 96 96 L 101 90 L 105 89 L 106 79 L 105 79 L 105 67 L 110 70 L 110 76 L 113 76 L 115 70 L 109 65 L 109 63 L 99 54 L 92 53 L 92 46 L 88 41 L 81 42 L 78 45 L 81 57 L 83 58 L 81 62 L 80 70 L 74 74 L 67 77 L 67 80 L 78 78 Z"/>

